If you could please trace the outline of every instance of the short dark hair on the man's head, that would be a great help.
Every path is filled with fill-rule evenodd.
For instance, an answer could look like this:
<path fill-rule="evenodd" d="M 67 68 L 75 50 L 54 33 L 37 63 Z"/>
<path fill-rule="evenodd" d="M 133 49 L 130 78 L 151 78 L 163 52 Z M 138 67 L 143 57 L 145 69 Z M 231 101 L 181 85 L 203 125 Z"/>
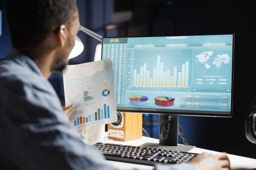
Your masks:
<path fill-rule="evenodd" d="M 76 0 L 8 0 L 7 20 L 12 45 L 21 48 L 42 43 L 52 31 L 76 17 Z"/>

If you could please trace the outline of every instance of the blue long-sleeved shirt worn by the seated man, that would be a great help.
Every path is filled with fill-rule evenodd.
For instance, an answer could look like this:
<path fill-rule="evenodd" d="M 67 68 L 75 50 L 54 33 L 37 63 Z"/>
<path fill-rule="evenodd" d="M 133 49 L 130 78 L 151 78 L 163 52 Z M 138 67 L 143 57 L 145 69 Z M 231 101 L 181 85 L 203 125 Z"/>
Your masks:
<path fill-rule="evenodd" d="M 17 48 L 0 60 L 0 169 L 115 169 L 84 144 L 56 92 Z M 195 169 L 190 164 L 156 169 Z"/>

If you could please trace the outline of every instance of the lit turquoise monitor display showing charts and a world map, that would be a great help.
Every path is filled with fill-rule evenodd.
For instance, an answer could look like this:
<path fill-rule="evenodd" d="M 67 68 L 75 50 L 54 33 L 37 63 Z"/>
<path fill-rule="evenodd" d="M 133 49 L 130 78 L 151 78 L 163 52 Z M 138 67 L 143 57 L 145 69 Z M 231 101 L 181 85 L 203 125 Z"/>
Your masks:
<path fill-rule="evenodd" d="M 234 34 L 103 38 L 118 111 L 232 116 Z"/>

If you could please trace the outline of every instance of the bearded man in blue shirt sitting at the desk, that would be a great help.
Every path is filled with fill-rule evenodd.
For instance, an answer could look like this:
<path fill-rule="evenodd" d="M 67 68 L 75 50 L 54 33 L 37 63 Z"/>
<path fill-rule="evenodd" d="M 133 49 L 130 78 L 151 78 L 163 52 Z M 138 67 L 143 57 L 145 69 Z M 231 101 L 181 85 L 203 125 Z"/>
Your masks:
<path fill-rule="evenodd" d="M 68 62 L 79 16 L 74 0 L 8 0 L 12 47 L 0 61 L 0 169 L 115 169 L 83 143 L 47 78 Z M 72 108 L 70 108 L 72 110 Z M 226 154 L 156 169 L 230 169 Z"/>

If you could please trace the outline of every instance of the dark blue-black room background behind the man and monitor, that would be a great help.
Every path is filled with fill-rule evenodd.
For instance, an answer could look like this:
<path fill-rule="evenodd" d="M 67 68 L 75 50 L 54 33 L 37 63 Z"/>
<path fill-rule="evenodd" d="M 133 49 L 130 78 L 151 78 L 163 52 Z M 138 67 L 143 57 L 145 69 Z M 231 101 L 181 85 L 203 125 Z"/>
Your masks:
<path fill-rule="evenodd" d="M 11 45 L 6 22 L 6 0 L 0 1 L 3 12 L 0 57 Z M 255 4 L 250 1 L 203 0 L 77 0 L 80 22 L 102 36 L 175 36 L 235 33 L 234 113 L 232 118 L 179 117 L 191 145 L 256 159 L 256 145 L 244 134 L 244 120 L 251 111 L 255 90 Z M 118 11 L 130 10 L 132 17 L 116 23 Z M 85 49 L 70 64 L 93 60 L 95 45 L 83 32 L 78 34 Z M 64 104 L 60 75 L 49 78 Z M 1 82 L 0 82 L 1 83 Z M 150 136 L 158 138 L 159 116 L 143 115 L 143 125 Z M 180 140 L 179 140 L 180 141 Z"/>

